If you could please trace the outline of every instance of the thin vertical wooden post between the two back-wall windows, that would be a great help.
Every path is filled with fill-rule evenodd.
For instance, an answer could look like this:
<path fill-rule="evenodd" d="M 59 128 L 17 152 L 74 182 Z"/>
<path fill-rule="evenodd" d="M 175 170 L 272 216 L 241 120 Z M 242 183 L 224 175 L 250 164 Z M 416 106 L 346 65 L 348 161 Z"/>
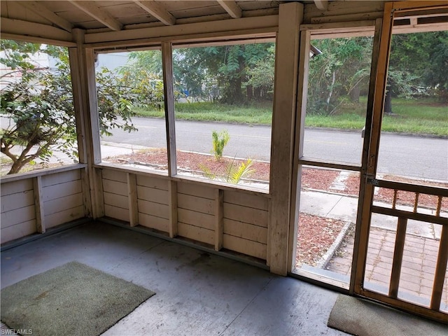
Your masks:
<path fill-rule="evenodd" d="M 163 91 L 165 93 L 165 123 L 167 126 L 168 175 L 177 174 L 176 131 L 174 129 L 174 85 L 172 45 L 162 42 Z"/>

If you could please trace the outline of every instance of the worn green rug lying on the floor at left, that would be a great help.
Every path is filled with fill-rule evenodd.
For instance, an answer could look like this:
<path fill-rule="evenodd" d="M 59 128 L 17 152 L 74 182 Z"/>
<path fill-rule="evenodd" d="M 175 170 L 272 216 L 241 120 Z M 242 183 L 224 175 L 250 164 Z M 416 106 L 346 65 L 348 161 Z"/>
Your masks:
<path fill-rule="evenodd" d="M 69 262 L 3 288 L 1 321 L 32 335 L 100 335 L 154 294 Z"/>

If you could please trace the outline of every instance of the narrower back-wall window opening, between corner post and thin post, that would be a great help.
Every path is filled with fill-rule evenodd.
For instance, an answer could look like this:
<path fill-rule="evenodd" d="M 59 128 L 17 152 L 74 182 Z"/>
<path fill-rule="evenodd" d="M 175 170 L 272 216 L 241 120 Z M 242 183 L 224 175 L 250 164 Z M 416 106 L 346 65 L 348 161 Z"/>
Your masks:
<path fill-rule="evenodd" d="M 168 174 L 162 52 L 99 54 L 102 162 Z"/>

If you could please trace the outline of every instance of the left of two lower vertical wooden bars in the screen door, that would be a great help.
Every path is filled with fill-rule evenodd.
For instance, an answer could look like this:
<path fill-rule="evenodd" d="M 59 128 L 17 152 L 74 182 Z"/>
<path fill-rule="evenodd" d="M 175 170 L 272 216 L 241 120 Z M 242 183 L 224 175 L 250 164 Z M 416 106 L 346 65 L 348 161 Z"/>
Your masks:
<path fill-rule="evenodd" d="M 400 285 L 401 263 L 405 249 L 407 218 L 398 217 L 397 235 L 395 236 L 395 248 L 393 250 L 391 283 L 389 285 L 389 296 L 397 298 L 398 286 Z"/>

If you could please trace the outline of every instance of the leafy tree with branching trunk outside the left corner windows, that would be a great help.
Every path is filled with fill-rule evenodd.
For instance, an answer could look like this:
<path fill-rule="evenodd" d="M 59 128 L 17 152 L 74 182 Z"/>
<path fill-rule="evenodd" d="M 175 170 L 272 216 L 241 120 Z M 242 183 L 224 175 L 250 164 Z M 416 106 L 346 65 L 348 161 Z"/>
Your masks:
<path fill-rule="evenodd" d="M 66 48 L 1 40 L 1 49 L 4 56 L 0 62 L 11 68 L 10 73 L 20 74 L 0 92 L 0 113 L 8 118 L 6 127 L 2 123 L 1 153 L 13 161 L 8 174 L 20 172 L 36 158 L 48 161 L 55 150 L 76 158 L 76 123 Z M 38 68 L 31 61 L 35 52 L 54 57 L 57 66 Z M 154 97 L 151 86 L 136 90 L 107 69 L 97 76 L 97 94 L 100 131 L 106 135 L 113 128 L 136 130 L 131 119 L 132 106 L 148 104 Z"/>

